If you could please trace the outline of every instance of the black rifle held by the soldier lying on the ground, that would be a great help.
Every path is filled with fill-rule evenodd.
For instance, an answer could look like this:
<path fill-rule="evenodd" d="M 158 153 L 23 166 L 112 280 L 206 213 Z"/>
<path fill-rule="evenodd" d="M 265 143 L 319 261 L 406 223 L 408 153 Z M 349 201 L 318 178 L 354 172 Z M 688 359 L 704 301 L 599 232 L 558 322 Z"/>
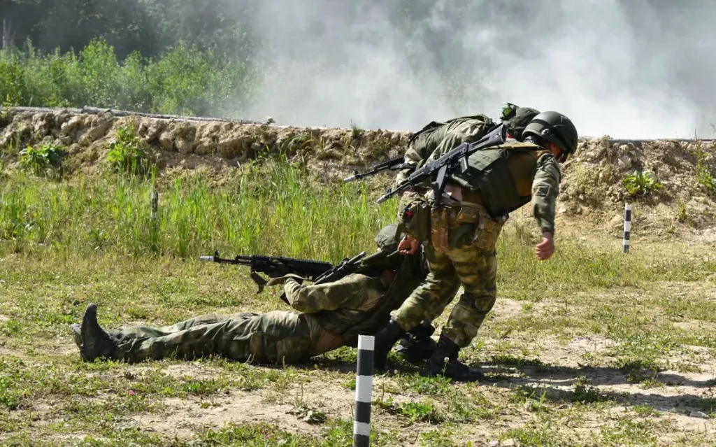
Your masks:
<path fill-rule="evenodd" d="M 218 251 L 214 251 L 213 256 L 200 256 L 199 259 L 201 261 L 218 262 L 219 264 L 250 266 L 251 279 L 253 279 L 253 282 L 258 286 L 258 292 L 261 292 L 267 281 L 261 277 L 259 273 L 269 274 L 269 276 L 280 274 L 279 269 L 281 264 L 286 266 L 289 273 L 310 279 L 314 284 L 324 284 L 326 282 L 337 281 L 359 269 L 364 256 L 365 251 L 362 251 L 357 256 L 350 259 L 346 258 L 335 266 L 330 262 L 324 261 L 285 258 L 283 256 L 261 256 L 256 254 L 251 256 L 238 255 L 233 259 L 223 259 L 219 257 Z M 291 304 L 284 294 L 281 294 L 281 299 L 283 299 L 286 304 Z"/>

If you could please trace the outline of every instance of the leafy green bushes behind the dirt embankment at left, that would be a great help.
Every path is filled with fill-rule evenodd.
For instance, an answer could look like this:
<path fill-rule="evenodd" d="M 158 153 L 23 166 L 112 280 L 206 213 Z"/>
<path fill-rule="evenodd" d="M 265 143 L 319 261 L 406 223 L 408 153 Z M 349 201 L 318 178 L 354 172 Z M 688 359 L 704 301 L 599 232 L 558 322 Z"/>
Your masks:
<path fill-rule="evenodd" d="M 118 59 L 105 40 L 78 52 L 0 50 L 0 98 L 8 105 L 109 107 L 172 115 L 241 112 L 253 74 L 243 62 L 178 43 L 156 59 Z"/>

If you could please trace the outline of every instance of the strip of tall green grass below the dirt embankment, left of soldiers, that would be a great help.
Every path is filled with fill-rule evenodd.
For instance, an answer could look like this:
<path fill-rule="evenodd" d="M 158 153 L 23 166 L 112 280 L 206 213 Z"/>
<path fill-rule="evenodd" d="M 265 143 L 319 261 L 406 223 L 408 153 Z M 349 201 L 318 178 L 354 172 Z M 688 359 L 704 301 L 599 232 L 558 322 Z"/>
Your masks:
<path fill-rule="evenodd" d="M 119 147 L 133 146 L 118 140 Z M 125 168 L 127 160 L 135 163 L 125 158 Z M 374 229 L 392 219 L 390 205 L 375 207 L 363 185 L 311 188 L 305 171 L 281 163 L 246 165 L 220 190 L 205 176 L 168 181 L 158 188 L 156 224 L 152 188 L 152 178 L 46 184 L 18 173 L 0 191 L 0 250 L 37 253 L 51 244 L 68 254 L 195 258 L 218 249 L 337 261 L 367 248 Z"/>

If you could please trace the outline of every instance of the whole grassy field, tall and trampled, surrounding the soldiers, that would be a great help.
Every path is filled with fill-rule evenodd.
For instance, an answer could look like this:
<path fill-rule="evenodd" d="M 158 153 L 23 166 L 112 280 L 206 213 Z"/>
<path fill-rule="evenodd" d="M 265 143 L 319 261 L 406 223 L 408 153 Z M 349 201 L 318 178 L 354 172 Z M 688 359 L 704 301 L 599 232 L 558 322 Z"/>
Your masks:
<path fill-rule="evenodd" d="M 106 171 L 48 179 L 23 170 L 0 179 L 0 445 L 349 446 L 351 348 L 285 367 L 223 358 L 84 363 L 67 325 L 88 302 L 99 304 L 100 323 L 110 328 L 286 309 L 279 291 L 256 294 L 245 269 L 196 258 L 218 249 L 339 261 L 374 250 L 395 203 L 376 206 L 377 191 L 362 184 L 316 181 L 303 168 L 260 159 L 221 174 L 156 177 L 153 226 L 153 180 Z M 716 266 L 637 249 L 623 256 L 617 245 L 611 252 L 564 239 L 541 263 L 530 231 L 511 223 L 498 246 L 495 312 L 461 352 L 488 380 L 424 378 L 399 360 L 395 372 L 376 376 L 373 398 L 382 404 L 374 406 L 373 445 L 652 445 L 654 436 L 712 444 L 662 417 L 671 408 L 715 407 L 712 381 L 683 400 L 667 391 L 679 385 L 674 370 L 714 366 L 710 332 L 677 325 L 716 322 L 709 298 Z M 674 295 L 672 283 L 683 293 Z M 585 336 L 609 343 L 571 347 Z M 243 399 L 254 400 L 241 411 L 271 416 L 224 424 Z M 629 409 L 614 415 L 617 408 Z M 139 422 L 171 417 L 183 420 L 178 438 Z"/>

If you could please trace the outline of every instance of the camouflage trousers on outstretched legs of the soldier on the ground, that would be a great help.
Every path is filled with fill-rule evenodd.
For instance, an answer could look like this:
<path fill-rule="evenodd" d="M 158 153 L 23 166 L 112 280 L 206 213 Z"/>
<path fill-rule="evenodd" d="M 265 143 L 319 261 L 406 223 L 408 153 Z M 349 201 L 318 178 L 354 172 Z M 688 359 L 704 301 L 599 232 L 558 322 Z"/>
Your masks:
<path fill-rule="evenodd" d="M 165 327 L 115 332 L 120 357 L 141 362 L 163 357 L 193 359 L 221 355 L 241 362 L 297 362 L 311 352 L 309 326 L 294 312 L 203 315 Z"/>

